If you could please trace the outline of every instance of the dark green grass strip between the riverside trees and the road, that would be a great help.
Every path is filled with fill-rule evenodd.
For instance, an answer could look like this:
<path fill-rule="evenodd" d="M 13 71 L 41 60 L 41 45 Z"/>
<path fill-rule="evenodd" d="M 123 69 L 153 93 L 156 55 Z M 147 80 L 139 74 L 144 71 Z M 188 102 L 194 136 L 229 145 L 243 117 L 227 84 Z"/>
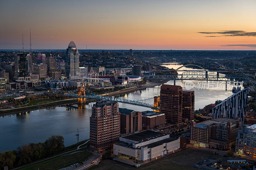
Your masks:
<path fill-rule="evenodd" d="M 34 165 L 26 166 L 24 168 L 20 168 L 20 170 L 57 170 L 60 168 L 64 168 L 65 165 L 67 167 L 80 161 L 84 161 L 84 159 L 88 158 L 91 155 L 92 153 L 89 152 L 76 152 L 70 155 L 60 156 L 57 158 L 52 158 L 43 162 L 36 163 Z"/>

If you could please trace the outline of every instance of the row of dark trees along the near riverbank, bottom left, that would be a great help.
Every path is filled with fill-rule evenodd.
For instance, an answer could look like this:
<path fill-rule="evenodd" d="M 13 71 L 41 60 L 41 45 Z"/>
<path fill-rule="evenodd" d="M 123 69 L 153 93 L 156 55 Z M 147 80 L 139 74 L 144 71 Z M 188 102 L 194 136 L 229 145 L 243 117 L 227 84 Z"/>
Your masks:
<path fill-rule="evenodd" d="M 16 150 L 0 153 L 0 167 L 8 168 L 22 166 L 32 163 L 38 159 L 55 155 L 64 151 L 64 137 L 53 135 L 44 143 L 29 143 L 19 146 Z"/>

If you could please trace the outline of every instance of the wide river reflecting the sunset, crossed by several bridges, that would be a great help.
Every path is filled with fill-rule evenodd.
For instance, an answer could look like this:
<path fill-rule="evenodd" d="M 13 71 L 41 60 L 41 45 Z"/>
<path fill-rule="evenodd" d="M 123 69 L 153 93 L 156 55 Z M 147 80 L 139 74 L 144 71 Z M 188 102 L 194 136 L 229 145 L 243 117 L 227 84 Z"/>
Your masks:
<path fill-rule="evenodd" d="M 168 68 L 177 69 L 179 63 L 163 63 Z M 180 70 L 196 70 L 183 67 Z M 188 83 L 194 84 L 190 89 Z M 173 85 L 173 81 L 166 84 Z M 224 100 L 232 95 L 230 90 L 225 91 L 225 85 L 221 82 L 203 81 L 176 81 L 183 89 L 195 91 L 195 109 L 215 103 L 216 100 Z M 202 88 L 204 86 L 204 88 Z M 160 93 L 161 86 L 150 87 L 144 90 L 130 92 L 119 97 L 129 100 L 141 100 L 150 98 Z M 152 100 L 153 101 L 153 100 Z M 73 107 L 53 107 L 49 109 L 33 110 L 26 113 L 0 116 L 0 152 L 14 150 L 22 144 L 44 142 L 51 135 L 62 135 L 65 146 L 75 144 L 78 141 L 88 139 L 90 132 L 90 116 L 92 114 L 91 102 L 84 109 Z M 119 107 L 146 111 L 146 107 L 119 103 Z M 79 138 L 75 136 L 79 128 Z"/>

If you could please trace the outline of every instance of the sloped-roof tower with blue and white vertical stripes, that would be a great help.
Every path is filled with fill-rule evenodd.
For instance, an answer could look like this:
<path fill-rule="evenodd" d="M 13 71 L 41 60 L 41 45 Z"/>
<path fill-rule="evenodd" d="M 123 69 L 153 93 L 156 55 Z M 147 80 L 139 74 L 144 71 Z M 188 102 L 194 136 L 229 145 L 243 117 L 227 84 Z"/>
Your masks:
<path fill-rule="evenodd" d="M 245 108 L 249 88 L 236 92 L 212 108 L 212 119 L 220 117 L 239 118 L 244 123 Z"/>

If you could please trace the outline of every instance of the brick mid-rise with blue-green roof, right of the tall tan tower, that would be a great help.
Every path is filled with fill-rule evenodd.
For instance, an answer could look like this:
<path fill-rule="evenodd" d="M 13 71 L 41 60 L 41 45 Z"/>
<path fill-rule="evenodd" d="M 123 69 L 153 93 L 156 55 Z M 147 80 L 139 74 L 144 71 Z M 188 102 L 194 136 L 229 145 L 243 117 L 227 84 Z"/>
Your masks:
<path fill-rule="evenodd" d="M 141 112 L 119 108 L 120 133 L 134 133 L 141 131 Z"/>

